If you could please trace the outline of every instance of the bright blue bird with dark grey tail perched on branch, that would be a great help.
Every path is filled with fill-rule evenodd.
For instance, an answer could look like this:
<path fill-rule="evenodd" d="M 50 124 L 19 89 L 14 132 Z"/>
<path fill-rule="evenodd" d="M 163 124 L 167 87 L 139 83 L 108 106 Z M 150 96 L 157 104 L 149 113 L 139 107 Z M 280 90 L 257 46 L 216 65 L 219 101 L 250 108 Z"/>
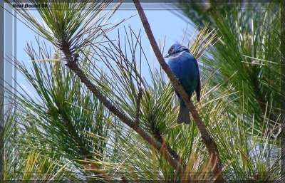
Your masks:
<path fill-rule="evenodd" d="M 168 53 L 165 55 L 165 58 L 169 58 L 167 64 L 172 73 L 179 80 L 185 92 L 191 97 L 195 90 L 197 100 L 199 102 L 201 91 L 199 67 L 195 57 L 189 52 L 189 49 L 175 43 L 170 47 Z M 175 93 L 180 99 L 180 111 L 178 114 L 177 123 L 185 122 L 186 124 L 190 124 L 189 110 L 178 94 L 176 88 Z"/>

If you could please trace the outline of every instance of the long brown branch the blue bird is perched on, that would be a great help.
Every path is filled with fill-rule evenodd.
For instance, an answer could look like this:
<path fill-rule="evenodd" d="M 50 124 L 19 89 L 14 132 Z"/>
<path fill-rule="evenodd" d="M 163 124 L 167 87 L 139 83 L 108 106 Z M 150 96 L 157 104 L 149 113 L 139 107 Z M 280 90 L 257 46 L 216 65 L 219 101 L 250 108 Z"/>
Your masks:
<path fill-rule="evenodd" d="M 145 28 L 145 32 L 147 33 L 147 37 L 150 40 L 150 44 L 152 46 L 153 51 L 155 52 L 155 56 L 157 57 L 157 60 L 160 63 L 160 66 L 162 67 L 163 70 L 165 70 L 165 73 L 167 76 L 170 78 L 171 82 L 177 89 L 178 93 L 182 97 L 182 100 L 185 101 L 187 108 L 190 110 L 190 113 L 192 114 L 192 117 L 194 118 L 196 125 L 199 129 L 199 132 L 201 133 L 202 140 L 204 142 L 204 145 L 207 147 L 207 151 L 209 152 L 209 157 L 212 156 L 211 158 L 211 163 L 213 166 L 213 172 L 214 172 L 214 177 L 217 177 L 217 180 L 219 182 L 223 182 L 222 178 L 222 162 L 219 159 L 219 152 L 217 150 L 217 145 L 216 143 L 212 140 L 211 135 L 209 135 L 209 132 L 202 122 L 201 118 L 199 117 L 199 114 L 191 102 L 189 96 L 187 93 L 185 93 L 185 90 L 182 88 L 182 85 L 180 85 L 179 81 L 177 78 L 175 78 L 175 75 L 171 72 L 170 68 L 168 67 L 167 63 L 165 63 L 165 59 L 163 58 L 162 54 L 160 53 L 160 49 L 157 46 L 157 42 L 155 41 L 155 37 L 152 34 L 150 24 L 147 21 L 147 17 L 145 16 L 145 12 L 142 9 L 142 6 L 140 5 L 140 1 L 138 0 L 133 0 L 133 3 L 135 4 L 135 8 L 138 10 L 138 14 L 140 16 L 140 20 L 142 21 L 142 25 Z"/>

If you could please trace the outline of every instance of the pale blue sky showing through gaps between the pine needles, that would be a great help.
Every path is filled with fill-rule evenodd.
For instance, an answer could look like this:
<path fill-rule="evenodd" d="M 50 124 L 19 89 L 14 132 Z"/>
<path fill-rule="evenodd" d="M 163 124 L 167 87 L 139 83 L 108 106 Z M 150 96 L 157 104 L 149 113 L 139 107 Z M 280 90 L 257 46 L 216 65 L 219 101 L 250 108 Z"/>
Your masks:
<path fill-rule="evenodd" d="M 158 43 L 158 41 L 165 41 L 165 51 L 170 48 L 170 46 L 173 43 L 179 42 L 181 43 L 183 34 L 185 32 L 185 28 L 187 28 L 188 25 L 188 32 L 192 32 L 194 30 L 193 26 L 191 26 L 190 22 L 185 21 L 185 19 L 182 19 L 180 16 L 177 16 L 174 14 L 173 11 L 176 11 L 172 6 L 167 4 L 142 4 L 142 7 L 145 10 L 145 14 L 147 16 L 147 19 L 150 23 L 150 26 L 152 28 L 152 33 L 155 36 L 155 39 Z M 36 15 L 36 11 L 33 11 Z M 135 16 L 134 16 L 135 15 Z M 147 39 L 147 36 L 145 34 L 145 30 L 142 27 L 142 23 L 140 21 L 140 17 L 138 16 L 138 12 L 135 9 L 135 6 L 133 6 L 132 3 L 123 3 L 120 6 L 120 9 L 116 11 L 115 15 L 113 15 L 112 19 L 110 19 L 110 22 L 115 21 L 118 19 L 118 21 L 128 18 L 130 16 L 133 16 L 131 19 L 128 19 L 128 21 L 123 22 L 118 26 L 121 33 L 124 33 L 124 26 L 128 28 L 128 26 L 131 26 L 133 31 L 135 33 L 138 33 L 141 29 L 141 35 L 142 35 L 142 46 L 144 48 L 144 51 L 146 53 L 146 56 L 149 57 L 149 61 L 154 61 L 155 68 L 159 68 L 159 63 L 157 62 L 155 56 L 152 54 L 150 42 Z M 40 22 L 43 22 L 41 17 L 37 16 L 38 20 Z M 116 28 L 116 29 L 118 29 Z M 31 60 L 24 51 L 24 47 L 26 46 L 26 43 L 33 43 L 33 45 L 36 45 L 36 33 L 31 31 L 31 28 L 28 28 L 24 23 L 21 23 L 20 21 L 17 21 L 16 23 L 16 58 L 18 61 L 23 61 L 25 65 L 30 68 L 31 67 Z M 108 36 L 117 38 L 118 31 L 113 30 L 113 32 L 108 33 Z M 43 41 L 43 38 L 41 38 L 41 41 Z M 48 42 L 46 42 L 48 43 Z M 51 46 L 51 44 L 49 44 Z M 51 47 L 51 50 L 53 50 L 53 47 Z M 147 78 L 147 66 L 142 66 L 142 75 L 144 75 Z M 17 82 L 27 90 L 29 90 L 31 93 L 34 91 L 31 89 L 31 87 L 26 82 L 26 79 L 24 78 L 21 73 L 17 72 Z M 17 88 L 18 90 L 20 88 Z"/>

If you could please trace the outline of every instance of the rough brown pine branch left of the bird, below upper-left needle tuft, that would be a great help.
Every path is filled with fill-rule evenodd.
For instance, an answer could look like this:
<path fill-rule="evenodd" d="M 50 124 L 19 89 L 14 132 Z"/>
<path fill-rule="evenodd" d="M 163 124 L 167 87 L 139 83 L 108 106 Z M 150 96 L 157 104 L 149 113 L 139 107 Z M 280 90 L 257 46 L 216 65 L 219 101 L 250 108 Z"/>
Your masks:
<path fill-rule="evenodd" d="M 105 108 L 108 108 L 108 110 L 110 110 L 110 112 L 113 113 L 116 117 L 118 117 L 122 122 L 131 127 L 133 130 L 135 130 L 135 132 L 138 132 L 138 134 L 144 140 L 146 140 L 150 145 L 152 145 L 152 147 L 155 147 L 155 149 L 158 152 L 160 152 L 163 157 L 165 157 L 165 160 L 167 160 L 167 162 L 169 162 L 172 165 L 172 167 L 177 169 L 177 172 L 181 172 L 182 167 L 180 166 L 180 164 L 170 155 L 169 152 L 167 152 L 166 148 L 163 145 L 161 145 L 160 142 L 157 142 L 157 140 L 148 135 L 147 132 L 145 132 L 145 130 L 143 130 L 133 120 L 127 117 L 124 113 L 121 113 L 120 110 L 118 110 L 118 108 L 116 108 L 115 105 L 110 103 L 110 101 L 107 98 L 105 98 L 105 96 L 102 93 L 100 93 L 100 90 L 98 90 L 98 88 L 95 85 L 93 85 L 93 83 L 90 82 L 90 80 L 86 77 L 83 71 L 78 67 L 78 63 L 76 63 L 76 61 L 73 60 L 74 57 L 72 58 L 71 56 L 71 50 L 68 44 L 65 44 L 63 42 L 61 45 L 61 50 L 63 51 L 67 61 L 66 66 L 68 66 L 68 68 L 70 68 L 74 73 L 76 73 L 78 78 L 80 78 L 81 82 L 86 85 L 88 90 L 90 90 L 93 93 L 95 98 L 98 98 L 98 100 L 100 100 L 100 102 L 103 103 Z"/>

